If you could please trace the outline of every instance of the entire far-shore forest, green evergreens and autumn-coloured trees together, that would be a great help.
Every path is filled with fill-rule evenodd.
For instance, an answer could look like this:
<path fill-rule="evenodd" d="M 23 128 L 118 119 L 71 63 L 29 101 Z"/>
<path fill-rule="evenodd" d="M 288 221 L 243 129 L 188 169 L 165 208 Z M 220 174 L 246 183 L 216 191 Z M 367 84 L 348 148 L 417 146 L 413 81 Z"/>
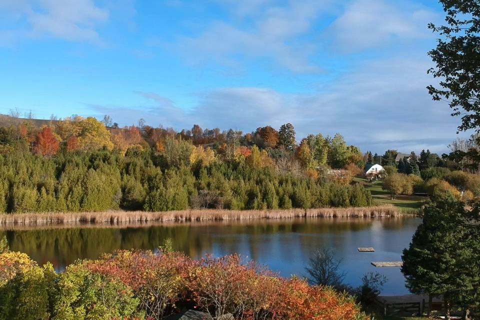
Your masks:
<path fill-rule="evenodd" d="M 295 145 L 287 123 L 243 134 L 117 128 L 107 117 L 38 120 L 3 116 L 0 211 L 109 209 L 276 209 L 368 206 L 360 184 L 363 155 L 340 134 L 309 135 Z M 106 124 L 106 125 L 105 125 Z M 322 174 L 329 168 L 349 172 Z"/>

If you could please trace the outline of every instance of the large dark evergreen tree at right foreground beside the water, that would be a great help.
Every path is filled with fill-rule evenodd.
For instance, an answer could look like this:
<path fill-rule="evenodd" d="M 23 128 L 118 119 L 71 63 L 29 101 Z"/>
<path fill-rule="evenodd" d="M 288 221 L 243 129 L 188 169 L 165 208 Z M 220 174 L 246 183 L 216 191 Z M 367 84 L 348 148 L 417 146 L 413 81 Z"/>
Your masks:
<path fill-rule="evenodd" d="M 416 294 L 442 296 L 452 304 L 480 303 L 480 241 L 465 204 L 447 195 L 422 210 L 422 222 L 403 250 L 401 272 Z"/>

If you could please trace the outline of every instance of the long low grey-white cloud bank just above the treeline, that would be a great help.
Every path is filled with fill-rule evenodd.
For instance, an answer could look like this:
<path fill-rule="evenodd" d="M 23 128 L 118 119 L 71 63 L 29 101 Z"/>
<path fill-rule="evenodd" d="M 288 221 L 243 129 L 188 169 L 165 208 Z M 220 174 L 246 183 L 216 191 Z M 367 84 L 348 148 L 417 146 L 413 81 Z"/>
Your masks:
<path fill-rule="evenodd" d="M 350 144 L 363 151 L 402 152 L 430 148 L 446 151 L 455 138 L 458 119 L 450 116 L 447 104 L 432 101 L 425 86 L 432 82 L 422 59 L 370 61 L 344 74 L 337 81 L 310 93 L 281 93 L 270 88 L 230 87 L 213 89 L 197 97 L 196 106 L 183 109 L 163 96 L 140 92 L 153 104 L 134 112 L 116 111 L 126 124 L 144 117 L 151 125 L 174 128 L 229 127 L 244 132 L 258 126 L 291 122 L 300 139 L 308 133 L 333 135 L 340 132 Z M 113 109 L 111 109 L 113 110 Z M 115 119 L 117 120 L 117 119 Z M 123 119 L 118 119 L 124 122 Z"/>

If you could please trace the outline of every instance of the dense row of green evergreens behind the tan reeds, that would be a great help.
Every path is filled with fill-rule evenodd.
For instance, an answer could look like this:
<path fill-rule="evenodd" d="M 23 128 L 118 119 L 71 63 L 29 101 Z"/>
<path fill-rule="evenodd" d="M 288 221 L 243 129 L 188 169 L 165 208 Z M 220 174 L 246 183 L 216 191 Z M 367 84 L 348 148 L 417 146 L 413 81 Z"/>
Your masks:
<path fill-rule="evenodd" d="M 166 211 L 192 208 L 275 209 L 366 206 L 361 185 L 340 185 L 213 161 L 170 166 L 150 149 L 59 152 L 44 157 L 17 150 L 0 154 L 0 212 Z"/>

